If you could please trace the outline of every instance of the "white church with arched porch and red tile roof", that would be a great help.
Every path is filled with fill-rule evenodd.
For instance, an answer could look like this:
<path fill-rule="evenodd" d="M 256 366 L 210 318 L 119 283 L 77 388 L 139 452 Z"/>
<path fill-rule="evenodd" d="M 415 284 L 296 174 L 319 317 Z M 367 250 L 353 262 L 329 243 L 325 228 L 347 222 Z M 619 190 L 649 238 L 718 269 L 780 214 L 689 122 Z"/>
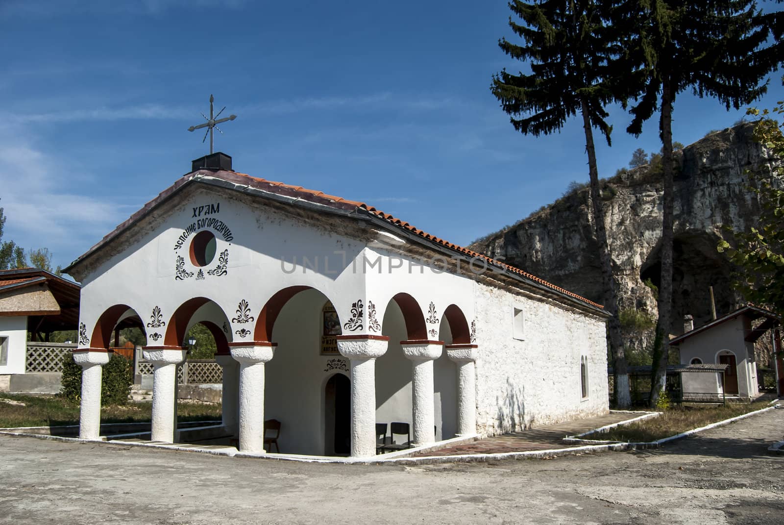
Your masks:
<path fill-rule="evenodd" d="M 114 327 L 141 319 L 151 439 L 173 443 L 176 366 L 203 323 L 223 367 L 223 427 L 264 454 L 377 453 L 608 412 L 601 305 L 363 202 L 236 173 L 222 153 L 66 268 L 82 283 L 80 436 L 100 433 Z"/>

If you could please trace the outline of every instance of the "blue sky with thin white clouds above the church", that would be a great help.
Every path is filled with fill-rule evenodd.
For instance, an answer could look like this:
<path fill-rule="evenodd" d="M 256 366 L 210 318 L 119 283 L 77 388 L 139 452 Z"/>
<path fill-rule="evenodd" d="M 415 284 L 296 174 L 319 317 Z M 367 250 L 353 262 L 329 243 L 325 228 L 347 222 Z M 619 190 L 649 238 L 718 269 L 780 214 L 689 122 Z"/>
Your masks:
<path fill-rule="evenodd" d="M 522 65 L 505 0 L 0 2 L 0 206 L 4 239 L 74 258 L 205 155 L 210 93 L 238 118 L 216 133 L 234 169 L 393 213 L 467 244 L 587 180 L 579 122 L 514 131 L 489 91 Z M 771 108 L 784 98 L 771 75 Z M 684 144 L 744 111 L 681 94 Z M 223 115 L 222 115 L 223 116 Z M 659 150 L 612 110 L 601 176 Z M 209 142 L 209 139 L 208 139 Z"/>

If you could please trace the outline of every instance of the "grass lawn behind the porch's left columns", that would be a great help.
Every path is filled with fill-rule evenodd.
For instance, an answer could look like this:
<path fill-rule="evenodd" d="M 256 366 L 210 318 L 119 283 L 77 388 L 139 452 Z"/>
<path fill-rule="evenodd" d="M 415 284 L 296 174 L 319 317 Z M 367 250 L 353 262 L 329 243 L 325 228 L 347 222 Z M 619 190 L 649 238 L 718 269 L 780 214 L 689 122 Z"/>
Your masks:
<path fill-rule="evenodd" d="M 10 404 L 9 399 L 22 405 Z M 101 423 L 133 423 L 150 421 L 152 403 L 128 403 L 125 406 L 101 407 Z M 178 403 L 179 421 L 220 419 L 220 405 Z M 78 425 L 79 405 L 57 396 L 22 396 L 0 394 L 0 428 L 38 427 L 47 425 Z"/>

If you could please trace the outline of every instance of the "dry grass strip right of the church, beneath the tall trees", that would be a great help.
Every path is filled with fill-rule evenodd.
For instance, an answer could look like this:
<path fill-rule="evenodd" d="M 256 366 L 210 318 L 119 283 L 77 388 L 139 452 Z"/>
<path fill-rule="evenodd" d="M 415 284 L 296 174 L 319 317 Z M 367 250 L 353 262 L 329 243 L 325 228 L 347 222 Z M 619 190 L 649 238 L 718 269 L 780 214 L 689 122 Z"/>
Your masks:
<path fill-rule="evenodd" d="M 665 410 L 659 417 L 649 417 L 636 423 L 621 425 L 612 428 L 609 432 L 585 436 L 585 439 L 647 443 L 768 406 L 768 401 L 757 401 L 756 403 L 728 403 L 726 407 L 675 407 Z"/>

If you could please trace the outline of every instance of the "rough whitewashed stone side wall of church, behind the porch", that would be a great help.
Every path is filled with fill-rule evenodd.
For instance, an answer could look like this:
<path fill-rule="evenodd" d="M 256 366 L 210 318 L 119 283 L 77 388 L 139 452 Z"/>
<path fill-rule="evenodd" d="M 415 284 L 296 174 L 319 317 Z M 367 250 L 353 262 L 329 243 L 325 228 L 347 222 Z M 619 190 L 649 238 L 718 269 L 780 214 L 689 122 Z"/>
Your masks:
<path fill-rule="evenodd" d="M 477 429 L 497 434 L 609 410 L 605 325 L 513 293 L 475 285 Z M 524 340 L 513 337 L 513 308 L 523 309 Z M 588 358 L 588 397 L 580 358 Z"/>

